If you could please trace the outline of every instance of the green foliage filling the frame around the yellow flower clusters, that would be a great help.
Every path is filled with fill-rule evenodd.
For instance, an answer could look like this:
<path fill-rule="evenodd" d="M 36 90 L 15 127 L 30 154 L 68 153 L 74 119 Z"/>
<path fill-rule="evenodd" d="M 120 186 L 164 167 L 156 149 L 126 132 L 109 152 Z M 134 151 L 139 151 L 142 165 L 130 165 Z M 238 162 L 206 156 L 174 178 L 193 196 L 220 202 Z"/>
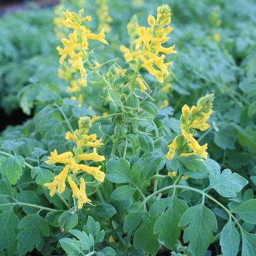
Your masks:
<path fill-rule="evenodd" d="M 82 1 L 64 2 L 64 9 L 81 8 Z M 100 18 L 96 2 L 105 3 L 82 3 L 93 18 L 91 31 Z M 0 107 L 29 115 L 0 136 L 1 256 L 143 256 L 166 248 L 172 256 L 256 256 L 256 5 L 172 1 L 174 31 L 166 47 L 175 43 L 178 53 L 166 57 L 173 64 L 160 83 L 144 67 L 139 73 L 134 59 L 132 66 L 125 63 L 119 46 L 128 45 L 165 2 L 107 1 L 109 46 L 91 44 L 88 61 L 102 66 L 89 66 L 82 102 L 70 100 L 75 94 L 57 77 L 52 8 L 1 17 Z M 144 93 L 138 74 L 148 87 Z M 207 143 L 207 159 L 182 156 L 190 149 L 181 108 L 206 93 L 215 94 L 211 127 L 190 132 L 200 146 Z M 64 137 L 81 116 L 94 119 L 89 134 L 102 139 L 97 152 L 105 157 L 100 165 L 106 176 L 103 183 L 82 170 L 72 176 L 77 184 L 85 179 L 91 200 L 78 209 L 68 181 L 53 197 L 44 184 L 63 170 L 45 163 L 50 152 L 74 153 Z M 176 135 L 177 151 L 167 160 Z"/>

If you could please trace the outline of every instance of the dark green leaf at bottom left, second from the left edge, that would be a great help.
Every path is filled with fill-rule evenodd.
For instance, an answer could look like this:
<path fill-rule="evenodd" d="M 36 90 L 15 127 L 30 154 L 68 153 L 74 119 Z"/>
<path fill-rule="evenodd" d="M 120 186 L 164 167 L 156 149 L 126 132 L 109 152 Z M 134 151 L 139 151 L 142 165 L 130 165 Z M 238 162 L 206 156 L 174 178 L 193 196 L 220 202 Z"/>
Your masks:
<path fill-rule="evenodd" d="M 18 238 L 19 255 L 31 252 L 34 247 L 38 248 L 42 236 L 49 236 L 49 225 L 40 215 L 27 215 L 19 223 Z"/>

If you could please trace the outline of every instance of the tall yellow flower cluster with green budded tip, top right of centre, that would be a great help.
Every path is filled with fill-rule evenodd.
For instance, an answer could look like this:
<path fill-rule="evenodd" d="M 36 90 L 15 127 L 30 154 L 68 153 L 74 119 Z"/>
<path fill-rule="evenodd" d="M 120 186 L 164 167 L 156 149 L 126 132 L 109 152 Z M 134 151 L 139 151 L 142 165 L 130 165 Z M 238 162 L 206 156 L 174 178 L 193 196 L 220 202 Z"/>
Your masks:
<path fill-rule="evenodd" d="M 164 75 L 169 74 L 168 66 L 170 62 L 165 61 L 165 54 L 174 54 L 174 45 L 164 47 L 170 37 L 169 33 L 172 27 L 169 26 L 171 21 L 171 12 L 167 4 L 158 6 L 156 19 L 153 15 L 149 15 L 147 23 L 150 27 L 140 26 L 137 28 L 137 36 L 133 39 L 130 49 L 121 45 L 120 50 L 124 52 L 124 59 L 135 61 L 137 67 L 142 67 L 151 75 L 156 77 L 158 82 L 163 82 Z M 128 25 L 129 26 L 129 25 Z M 140 80 L 137 80 L 141 91 L 145 91 Z"/>

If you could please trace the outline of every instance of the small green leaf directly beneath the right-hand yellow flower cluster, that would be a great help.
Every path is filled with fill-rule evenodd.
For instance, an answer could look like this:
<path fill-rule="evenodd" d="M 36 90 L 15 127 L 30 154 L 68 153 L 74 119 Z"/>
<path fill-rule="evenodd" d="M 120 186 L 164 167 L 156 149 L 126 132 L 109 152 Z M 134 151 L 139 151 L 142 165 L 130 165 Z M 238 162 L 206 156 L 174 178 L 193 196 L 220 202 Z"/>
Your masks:
<path fill-rule="evenodd" d="M 187 157 L 178 157 L 178 160 L 192 172 L 202 172 L 207 169 L 206 165 L 204 164 L 204 160 L 196 154 L 192 154 L 191 156 Z"/>

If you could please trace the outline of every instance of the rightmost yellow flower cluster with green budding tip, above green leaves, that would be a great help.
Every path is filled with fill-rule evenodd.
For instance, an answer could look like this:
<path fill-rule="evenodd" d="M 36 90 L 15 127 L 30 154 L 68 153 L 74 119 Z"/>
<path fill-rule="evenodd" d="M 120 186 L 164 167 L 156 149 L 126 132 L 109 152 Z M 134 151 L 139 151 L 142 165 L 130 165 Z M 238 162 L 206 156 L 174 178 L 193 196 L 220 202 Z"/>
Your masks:
<path fill-rule="evenodd" d="M 206 94 L 206 96 L 200 98 L 197 102 L 197 106 L 188 107 L 184 105 L 182 108 L 181 115 L 181 133 L 186 140 L 189 152 L 181 153 L 180 156 L 189 156 L 191 154 L 199 154 L 202 158 L 207 158 L 207 144 L 200 146 L 199 142 L 193 137 L 195 134 L 195 129 L 200 131 L 206 131 L 210 125 L 207 122 L 211 114 L 213 113 L 213 94 Z M 180 135 L 177 135 L 171 144 L 169 144 L 169 152 L 167 153 L 167 158 L 171 160 L 174 158 L 174 154 L 179 147 L 177 140 Z M 192 151 L 192 152 L 191 152 Z"/>

